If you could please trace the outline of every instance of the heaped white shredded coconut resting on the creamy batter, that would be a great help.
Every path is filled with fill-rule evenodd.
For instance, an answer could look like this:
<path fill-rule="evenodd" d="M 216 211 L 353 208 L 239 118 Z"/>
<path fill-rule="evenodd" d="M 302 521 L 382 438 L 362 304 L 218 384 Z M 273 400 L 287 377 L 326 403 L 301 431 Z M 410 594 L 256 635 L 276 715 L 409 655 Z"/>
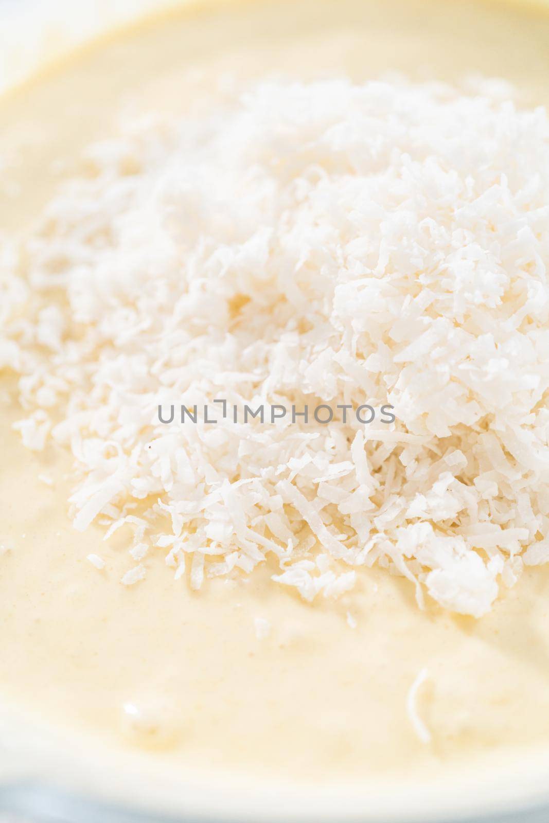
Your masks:
<path fill-rule="evenodd" d="M 549 119 L 490 88 L 264 81 L 94 146 L 4 244 L 17 428 L 72 449 L 77 529 L 133 529 L 124 583 L 377 564 L 481 616 L 549 560 Z M 158 420 L 216 398 L 397 421 Z"/>

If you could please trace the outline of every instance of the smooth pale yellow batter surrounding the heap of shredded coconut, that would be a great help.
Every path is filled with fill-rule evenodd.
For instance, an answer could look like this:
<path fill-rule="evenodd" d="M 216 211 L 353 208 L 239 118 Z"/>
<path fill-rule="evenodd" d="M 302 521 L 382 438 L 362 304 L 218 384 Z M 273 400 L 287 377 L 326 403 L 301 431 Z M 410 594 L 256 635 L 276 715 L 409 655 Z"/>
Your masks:
<path fill-rule="evenodd" d="M 474 2 L 298 0 L 151 21 L 2 102 L 2 231 L 26 230 L 81 149 L 114 132 L 123 107 L 183 111 L 215 90 L 221 72 L 279 69 L 358 79 L 392 69 L 441 80 L 483 72 L 545 102 L 549 15 Z M 549 743 L 546 570 L 527 570 L 479 621 L 419 611 L 412 587 L 384 570 L 363 571 L 335 602 L 309 605 L 270 584 L 268 569 L 192 593 L 165 573 L 159 551 L 147 556 L 147 579 L 125 588 L 128 533 L 105 543 L 100 527 L 72 529 L 69 458 L 23 448 L 11 429 L 21 416 L 16 385 L 1 378 L 4 706 L 62 729 L 66 746 L 79 734 L 179 774 L 434 779 L 474 758 Z M 256 617 L 272 625 L 268 637 L 256 637 Z M 407 714 L 423 668 L 417 710 L 429 743 Z"/>

